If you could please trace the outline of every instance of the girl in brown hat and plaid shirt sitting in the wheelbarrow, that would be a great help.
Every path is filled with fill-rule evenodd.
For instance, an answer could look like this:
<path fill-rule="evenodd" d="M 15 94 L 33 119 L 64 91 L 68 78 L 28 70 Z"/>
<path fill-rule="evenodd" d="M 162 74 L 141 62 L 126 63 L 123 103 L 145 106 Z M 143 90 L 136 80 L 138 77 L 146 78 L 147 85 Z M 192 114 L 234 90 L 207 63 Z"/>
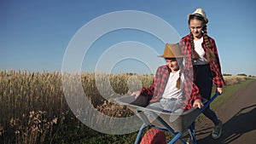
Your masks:
<path fill-rule="evenodd" d="M 202 98 L 193 79 L 183 72 L 183 55 L 178 43 L 166 43 L 164 55 L 166 65 L 159 66 L 149 88 L 133 92 L 133 104 L 146 107 L 159 107 L 166 111 L 177 112 L 191 107 L 203 107 Z M 193 71 L 187 71 L 193 72 Z"/>

